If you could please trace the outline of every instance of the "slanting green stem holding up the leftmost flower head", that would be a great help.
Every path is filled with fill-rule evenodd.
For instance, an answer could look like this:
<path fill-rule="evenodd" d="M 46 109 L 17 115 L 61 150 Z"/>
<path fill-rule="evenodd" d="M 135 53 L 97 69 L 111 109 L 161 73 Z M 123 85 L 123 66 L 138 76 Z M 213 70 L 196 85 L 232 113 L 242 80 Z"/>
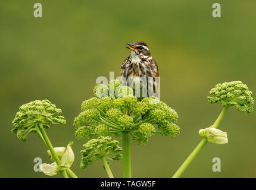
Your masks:
<path fill-rule="evenodd" d="M 40 133 L 42 134 L 43 139 L 45 140 L 46 146 L 48 147 L 49 151 L 51 151 L 52 157 L 54 158 L 55 162 L 57 163 L 58 166 L 61 165 L 61 160 L 55 153 L 54 147 L 52 147 L 52 143 L 49 140 L 48 136 L 46 135 L 45 129 L 43 129 L 43 125 L 39 124 L 38 128 L 39 128 Z M 66 171 L 60 171 L 60 173 L 63 178 L 68 178 Z"/>

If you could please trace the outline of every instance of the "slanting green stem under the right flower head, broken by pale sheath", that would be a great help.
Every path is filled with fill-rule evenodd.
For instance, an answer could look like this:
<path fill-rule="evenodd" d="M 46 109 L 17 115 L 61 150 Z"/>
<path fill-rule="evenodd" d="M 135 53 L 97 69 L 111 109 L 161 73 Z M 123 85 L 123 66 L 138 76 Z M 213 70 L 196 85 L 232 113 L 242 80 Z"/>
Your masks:
<path fill-rule="evenodd" d="M 218 125 L 220 125 L 220 122 L 222 121 L 224 115 L 226 115 L 227 110 L 229 107 L 224 107 L 223 110 L 221 111 L 220 115 L 218 115 L 218 118 L 213 124 L 213 128 L 217 128 Z M 207 144 L 207 138 L 203 138 L 201 142 L 196 146 L 195 150 L 192 151 L 192 153 L 189 155 L 189 157 L 183 162 L 182 166 L 179 167 L 176 173 L 174 173 L 172 178 L 180 178 L 182 173 L 186 170 L 186 168 L 191 164 L 193 159 L 198 155 L 198 153 L 204 148 L 205 144 Z"/>

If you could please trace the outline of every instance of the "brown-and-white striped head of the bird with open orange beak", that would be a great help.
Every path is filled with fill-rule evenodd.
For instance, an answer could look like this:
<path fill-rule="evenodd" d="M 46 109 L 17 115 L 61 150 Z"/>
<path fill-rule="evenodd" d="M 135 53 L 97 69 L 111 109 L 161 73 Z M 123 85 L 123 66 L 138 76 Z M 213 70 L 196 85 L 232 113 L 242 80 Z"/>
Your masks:
<path fill-rule="evenodd" d="M 148 46 L 145 42 L 137 41 L 133 43 L 127 43 L 127 48 L 130 49 L 130 55 L 131 56 L 143 56 L 143 57 L 149 57 L 151 56 Z"/>

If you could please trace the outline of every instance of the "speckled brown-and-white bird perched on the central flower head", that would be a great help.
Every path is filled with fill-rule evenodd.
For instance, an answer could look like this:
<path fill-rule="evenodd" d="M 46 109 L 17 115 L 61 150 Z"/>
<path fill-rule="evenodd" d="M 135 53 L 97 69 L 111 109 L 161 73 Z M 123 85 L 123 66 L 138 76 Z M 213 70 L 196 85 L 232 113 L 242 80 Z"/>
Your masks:
<path fill-rule="evenodd" d="M 142 41 L 127 45 L 130 55 L 121 64 L 123 84 L 132 87 L 139 100 L 151 96 L 158 97 L 158 66 L 151 56 L 148 45 Z"/>

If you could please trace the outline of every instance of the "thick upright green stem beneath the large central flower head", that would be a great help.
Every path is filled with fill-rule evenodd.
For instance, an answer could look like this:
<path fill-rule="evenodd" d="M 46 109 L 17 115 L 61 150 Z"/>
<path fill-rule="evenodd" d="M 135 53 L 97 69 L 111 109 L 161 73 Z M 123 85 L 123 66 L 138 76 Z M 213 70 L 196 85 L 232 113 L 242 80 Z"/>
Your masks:
<path fill-rule="evenodd" d="M 123 132 L 123 178 L 132 178 L 129 132 Z"/>

